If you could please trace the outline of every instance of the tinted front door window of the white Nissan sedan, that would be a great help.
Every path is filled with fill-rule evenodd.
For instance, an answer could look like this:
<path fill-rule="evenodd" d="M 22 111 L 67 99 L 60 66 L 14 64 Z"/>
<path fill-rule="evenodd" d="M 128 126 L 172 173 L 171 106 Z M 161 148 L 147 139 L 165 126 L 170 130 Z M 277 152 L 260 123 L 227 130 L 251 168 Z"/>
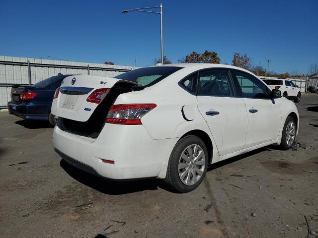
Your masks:
<path fill-rule="evenodd" d="M 257 78 L 240 71 L 234 71 L 243 98 L 268 99 L 267 87 Z"/>

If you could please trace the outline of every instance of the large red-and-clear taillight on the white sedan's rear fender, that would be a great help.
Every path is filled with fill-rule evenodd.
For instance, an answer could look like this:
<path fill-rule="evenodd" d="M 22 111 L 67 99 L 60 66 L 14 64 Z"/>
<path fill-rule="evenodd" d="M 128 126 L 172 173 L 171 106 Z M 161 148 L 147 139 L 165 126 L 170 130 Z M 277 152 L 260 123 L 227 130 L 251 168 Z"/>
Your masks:
<path fill-rule="evenodd" d="M 141 118 L 156 107 L 156 104 L 112 105 L 109 109 L 106 122 L 123 125 L 141 125 Z"/>

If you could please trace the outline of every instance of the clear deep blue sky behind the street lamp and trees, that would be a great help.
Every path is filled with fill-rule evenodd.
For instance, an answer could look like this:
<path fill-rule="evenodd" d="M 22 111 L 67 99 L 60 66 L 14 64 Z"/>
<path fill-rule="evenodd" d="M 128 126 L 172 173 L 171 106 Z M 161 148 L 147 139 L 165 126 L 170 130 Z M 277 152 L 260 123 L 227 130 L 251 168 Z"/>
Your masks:
<path fill-rule="evenodd" d="M 276 72 L 318 63 L 318 0 L 162 0 L 164 55 L 235 52 Z M 0 0 L 0 55 L 147 66 L 160 57 L 154 0 Z"/>

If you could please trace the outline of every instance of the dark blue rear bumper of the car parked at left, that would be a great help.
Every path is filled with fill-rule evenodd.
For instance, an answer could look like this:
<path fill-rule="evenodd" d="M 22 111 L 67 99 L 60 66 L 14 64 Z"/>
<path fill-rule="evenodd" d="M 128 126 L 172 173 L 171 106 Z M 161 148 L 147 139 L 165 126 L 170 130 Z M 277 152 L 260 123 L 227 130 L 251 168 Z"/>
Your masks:
<path fill-rule="evenodd" d="M 13 114 L 22 119 L 48 120 L 51 104 L 7 104 L 9 114 Z"/>

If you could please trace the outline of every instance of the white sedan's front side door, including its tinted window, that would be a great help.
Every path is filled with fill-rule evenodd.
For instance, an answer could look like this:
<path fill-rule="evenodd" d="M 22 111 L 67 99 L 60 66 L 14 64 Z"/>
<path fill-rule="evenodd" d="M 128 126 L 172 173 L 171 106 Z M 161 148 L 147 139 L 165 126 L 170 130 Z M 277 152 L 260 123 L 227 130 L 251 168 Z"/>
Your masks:
<path fill-rule="evenodd" d="M 279 105 L 274 99 L 270 99 L 270 90 L 261 80 L 249 73 L 239 70 L 231 70 L 231 73 L 241 92 L 248 115 L 245 147 L 277 139 L 281 113 Z"/>

